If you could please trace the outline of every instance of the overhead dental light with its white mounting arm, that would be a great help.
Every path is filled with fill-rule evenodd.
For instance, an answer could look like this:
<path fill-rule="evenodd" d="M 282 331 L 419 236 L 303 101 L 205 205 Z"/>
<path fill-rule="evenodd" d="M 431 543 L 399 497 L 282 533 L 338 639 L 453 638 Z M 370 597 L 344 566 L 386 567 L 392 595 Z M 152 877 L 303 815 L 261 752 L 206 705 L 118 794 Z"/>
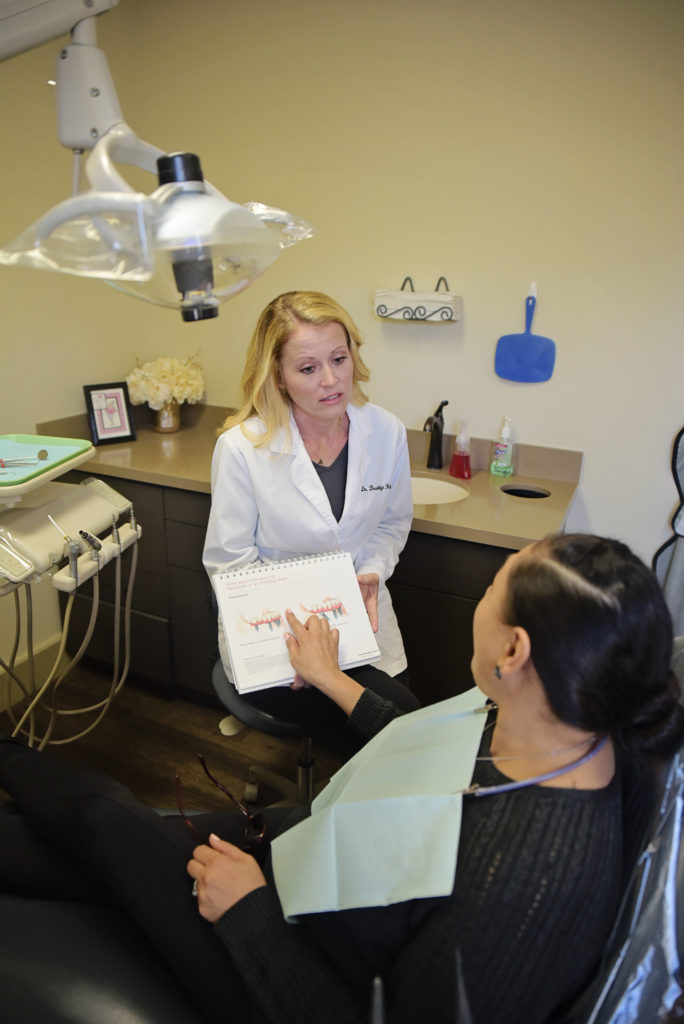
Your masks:
<path fill-rule="evenodd" d="M 16 0 L 0 6 L 0 59 L 71 32 L 56 61 L 58 136 L 80 157 L 90 187 L 48 210 L 0 249 L 0 263 L 98 278 L 187 322 L 218 315 L 279 257 L 314 234 L 305 221 L 261 203 L 231 203 L 204 180 L 195 154 L 143 142 L 119 108 L 95 18 L 119 0 Z M 158 175 L 135 190 L 115 164 Z"/>

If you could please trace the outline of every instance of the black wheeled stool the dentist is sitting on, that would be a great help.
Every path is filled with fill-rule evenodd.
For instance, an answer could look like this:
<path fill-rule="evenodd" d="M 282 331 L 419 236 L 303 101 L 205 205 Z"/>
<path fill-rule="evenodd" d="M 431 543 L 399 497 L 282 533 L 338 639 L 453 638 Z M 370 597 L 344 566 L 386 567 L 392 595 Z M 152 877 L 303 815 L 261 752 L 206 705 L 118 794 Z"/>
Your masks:
<path fill-rule="evenodd" d="M 296 781 L 260 765 L 250 765 L 245 785 L 245 800 L 256 803 L 259 799 L 259 783 L 264 782 L 281 795 L 283 804 L 310 803 L 314 788 L 311 727 L 274 715 L 245 700 L 228 680 L 220 660 L 214 666 L 211 678 L 219 700 L 240 723 L 258 732 L 265 732 L 269 736 L 301 740 Z"/>

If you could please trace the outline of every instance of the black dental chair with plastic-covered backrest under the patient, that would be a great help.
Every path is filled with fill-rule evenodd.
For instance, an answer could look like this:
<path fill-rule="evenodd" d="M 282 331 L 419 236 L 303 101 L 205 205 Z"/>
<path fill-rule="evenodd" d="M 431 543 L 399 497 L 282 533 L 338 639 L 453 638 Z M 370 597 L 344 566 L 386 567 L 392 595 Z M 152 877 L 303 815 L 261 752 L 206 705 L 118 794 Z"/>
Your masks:
<path fill-rule="evenodd" d="M 684 638 L 673 667 L 684 684 Z M 661 771 L 626 771 L 631 869 L 622 909 L 595 977 L 548 1024 L 684 1020 L 684 748 Z M 202 1024 L 157 951 L 118 911 L 0 894 L 0 921 L 4 1020 Z M 369 1008 L 382 1024 L 377 993 Z"/>

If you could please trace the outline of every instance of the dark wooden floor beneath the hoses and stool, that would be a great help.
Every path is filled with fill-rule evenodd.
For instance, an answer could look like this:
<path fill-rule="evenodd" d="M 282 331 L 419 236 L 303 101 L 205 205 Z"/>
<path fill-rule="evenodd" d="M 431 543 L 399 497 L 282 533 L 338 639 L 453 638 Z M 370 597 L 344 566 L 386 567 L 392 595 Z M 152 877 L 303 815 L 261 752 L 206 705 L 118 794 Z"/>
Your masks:
<path fill-rule="evenodd" d="M 106 695 L 109 684 L 109 677 L 96 666 L 81 665 L 59 689 L 60 707 L 89 707 Z M 218 730 L 225 714 L 218 700 L 208 707 L 128 682 L 91 732 L 72 742 L 50 743 L 48 749 L 113 775 L 145 803 L 159 808 L 176 806 L 176 772 L 182 779 L 186 809 L 218 810 L 226 806 L 225 796 L 212 785 L 197 762 L 198 753 L 204 754 L 212 772 L 240 798 L 251 764 L 295 778 L 299 740 L 276 739 L 251 729 L 225 737 Z M 62 717 L 52 736 L 58 740 L 81 732 L 94 717 L 94 713 Z M 13 731 L 7 712 L 0 713 L 0 731 Z M 39 737 L 43 735 L 40 723 L 36 732 Z M 341 763 L 338 751 L 330 743 L 326 748 L 314 744 L 313 753 L 316 780 L 330 777 Z M 275 791 L 263 787 L 261 804 L 279 799 Z"/>

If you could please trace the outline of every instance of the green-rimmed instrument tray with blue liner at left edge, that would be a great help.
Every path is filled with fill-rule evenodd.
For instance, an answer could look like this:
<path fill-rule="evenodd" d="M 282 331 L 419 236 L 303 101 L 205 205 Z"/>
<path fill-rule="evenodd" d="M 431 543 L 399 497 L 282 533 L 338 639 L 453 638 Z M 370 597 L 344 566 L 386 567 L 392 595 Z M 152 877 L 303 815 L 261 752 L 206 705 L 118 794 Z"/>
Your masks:
<path fill-rule="evenodd" d="M 0 504 L 14 505 L 22 495 L 91 459 L 95 450 L 78 437 L 0 434 Z"/>

